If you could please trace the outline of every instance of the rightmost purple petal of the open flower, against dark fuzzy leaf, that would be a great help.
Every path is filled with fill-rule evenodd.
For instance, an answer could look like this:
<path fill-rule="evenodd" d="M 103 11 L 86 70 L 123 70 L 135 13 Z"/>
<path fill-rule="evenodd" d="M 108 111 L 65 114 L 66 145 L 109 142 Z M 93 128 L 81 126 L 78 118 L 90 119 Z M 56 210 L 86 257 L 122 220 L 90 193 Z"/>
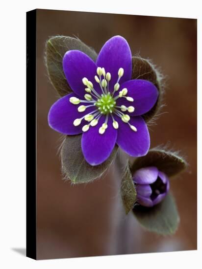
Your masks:
<path fill-rule="evenodd" d="M 158 98 L 157 88 L 147 80 L 134 79 L 123 83 L 120 90 L 127 88 L 127 96 L 134 99 L 129 102 L 126 98 L 118 98 L 117 106 L 125 105 L 126 107 L 133 106 L 134 112 L 129 113 L 131 116 L 139 116 L 151 110 Z"/>

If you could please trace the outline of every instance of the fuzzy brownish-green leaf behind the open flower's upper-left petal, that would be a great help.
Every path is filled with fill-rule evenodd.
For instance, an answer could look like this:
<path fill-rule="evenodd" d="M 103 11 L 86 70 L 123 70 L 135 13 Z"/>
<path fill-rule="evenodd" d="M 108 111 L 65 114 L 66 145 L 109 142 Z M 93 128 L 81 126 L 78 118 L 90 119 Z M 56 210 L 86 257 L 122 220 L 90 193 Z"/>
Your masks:
<path fill-rule="evenodd" d="M 45 61 L 51 84 L 59 96 L 64 96 L 72 90 L 63 72 L 62 60 L 68 50 L 77 49 L 96 61 L 96 52 L 77 38 L 67 36 L 51 37 L 46 43 Z"/>

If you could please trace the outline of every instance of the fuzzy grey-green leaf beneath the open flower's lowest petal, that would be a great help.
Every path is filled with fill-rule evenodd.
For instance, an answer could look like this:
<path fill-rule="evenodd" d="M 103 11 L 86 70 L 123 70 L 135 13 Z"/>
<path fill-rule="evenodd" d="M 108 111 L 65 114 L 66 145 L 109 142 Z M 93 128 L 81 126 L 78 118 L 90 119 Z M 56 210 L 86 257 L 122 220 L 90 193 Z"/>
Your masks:
<path fill-rule="evenodd" d="M 91 166 L 83 157 L 81 135 L 66 136 L 61 149 L 62 171 L 73 183 L 87 183 L 100 178 L 115 159 L 118 147 L 102 164 Z"/>

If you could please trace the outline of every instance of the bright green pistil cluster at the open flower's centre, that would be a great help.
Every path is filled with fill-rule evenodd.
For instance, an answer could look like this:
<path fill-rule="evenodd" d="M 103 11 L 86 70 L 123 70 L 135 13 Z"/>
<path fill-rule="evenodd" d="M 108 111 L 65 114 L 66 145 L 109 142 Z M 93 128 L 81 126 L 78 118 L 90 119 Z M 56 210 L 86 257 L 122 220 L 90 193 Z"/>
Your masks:
<path fill-rule="evenodd" d="M 98 99 L 95 105 L 98 107 L 102 114 L 107 115 L 114 111 L 116 101 L 114 101 L 114 98 L 108 92 L 107 94 L 101 94 L 101 98 Z"/>

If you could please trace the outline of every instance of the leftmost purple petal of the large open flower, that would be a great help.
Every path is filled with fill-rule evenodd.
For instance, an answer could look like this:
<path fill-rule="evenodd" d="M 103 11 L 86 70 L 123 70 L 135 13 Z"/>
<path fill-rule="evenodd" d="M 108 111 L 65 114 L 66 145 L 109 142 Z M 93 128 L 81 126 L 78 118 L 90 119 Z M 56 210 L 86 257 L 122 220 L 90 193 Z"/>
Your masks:
<path fill-rule="evenodd" d="M 83 119 L 79 126 L 74 126 L 73 122 L 76 118 L 81 118 L 93 110 L 90 107 L 85 112 L 78 112 L 77 108 L 80 104 L 73 105 L 70 103 L 69 99 L 72 96 L 78 97 L 75 93 L 70 93 L 57 100 L 49 111 L 48 122 L 50 127 L 62 134 L 81 134 L 86 121 Z"/>

